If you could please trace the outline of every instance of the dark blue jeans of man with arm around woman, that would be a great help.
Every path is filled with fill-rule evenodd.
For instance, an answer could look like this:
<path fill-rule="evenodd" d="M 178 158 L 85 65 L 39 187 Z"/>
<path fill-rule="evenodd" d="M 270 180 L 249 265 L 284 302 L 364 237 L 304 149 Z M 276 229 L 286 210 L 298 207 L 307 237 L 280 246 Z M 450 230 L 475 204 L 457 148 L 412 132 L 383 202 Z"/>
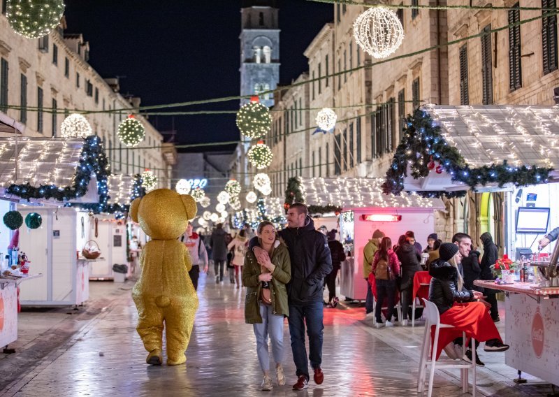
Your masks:
<path fill-rule="evenodd" d="M 312 368 L 320 368 L 322 363 L 322 340 L 324 334 L 324 305 L 322 301 L 306 305 L 289 305 L 289 335 L 291 352 L 297 368 L 296 375 L 309 379 L 309 360 Z M 305 324 L 309 335 L 309 357 L 305 347 Z"/>

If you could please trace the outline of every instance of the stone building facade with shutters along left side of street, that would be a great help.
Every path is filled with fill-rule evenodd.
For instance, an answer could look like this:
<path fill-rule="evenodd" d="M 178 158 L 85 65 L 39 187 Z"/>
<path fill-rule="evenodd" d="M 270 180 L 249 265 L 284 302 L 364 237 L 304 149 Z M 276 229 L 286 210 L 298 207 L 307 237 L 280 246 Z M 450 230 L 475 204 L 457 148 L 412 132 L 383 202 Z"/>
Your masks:
<path fill-rule="evenodd" d="M 48 36 L 29 40 L 11 29 L 5 15 L 0 16 L 0 135 L 13 136 L 15 125 L 24 136 L 59 136 L 67 115 L 90 110 L 95 113 L 87 114 L 87 120 L 103 139 L 113 173 L 150 168 L 160 187 L 170 187 L 174 148 L 164 145 L 161 133 L 140 115 L 136 118 L 146 131 L 140 147 L 127 148 L 119 142 L 118 124 L 137 113 L 140 99 L 119 94 L 117 79 L 101 78 L 88 63 L 89 43 L 81 34 L 65 34 L 64 24 L 63 19 Z"/>

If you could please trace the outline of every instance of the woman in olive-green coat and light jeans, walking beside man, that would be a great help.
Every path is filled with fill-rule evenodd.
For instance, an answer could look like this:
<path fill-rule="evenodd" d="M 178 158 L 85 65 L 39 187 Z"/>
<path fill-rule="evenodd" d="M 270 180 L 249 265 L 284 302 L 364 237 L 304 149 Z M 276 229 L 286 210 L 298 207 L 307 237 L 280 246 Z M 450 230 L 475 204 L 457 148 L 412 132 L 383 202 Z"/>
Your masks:
<path fill-rule="evenodd" d="M 253 324 L 256 353 L 264 374 L 261 389 L 271 390 L 268 335 L 272 342 L 277 384 L 285 384 L 282 367 L 284 352 L 284 317 L 289 316 L 285 284 L 291 280 L 291 261 L 287 246 L 278 240 L 271 222 L 259 224 L 260 246 L 268 252 L 266 261 L 259 261 L 252 251 L 245 255 L 242 285 L 247 288 L 245 322 Z"/>

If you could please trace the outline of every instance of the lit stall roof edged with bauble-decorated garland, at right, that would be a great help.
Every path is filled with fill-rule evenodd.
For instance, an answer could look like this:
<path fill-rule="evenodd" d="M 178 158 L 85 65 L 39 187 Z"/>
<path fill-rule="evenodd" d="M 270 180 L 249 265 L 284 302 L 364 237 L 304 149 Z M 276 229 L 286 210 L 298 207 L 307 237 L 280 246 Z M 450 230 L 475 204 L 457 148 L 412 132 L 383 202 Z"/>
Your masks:
<path fill-rule="evenodd" d="M 407 117 L 402 133 L 386 172 L 387 193 L 452 196 L 556 175 L 558 106 L 426 105 Z"/>

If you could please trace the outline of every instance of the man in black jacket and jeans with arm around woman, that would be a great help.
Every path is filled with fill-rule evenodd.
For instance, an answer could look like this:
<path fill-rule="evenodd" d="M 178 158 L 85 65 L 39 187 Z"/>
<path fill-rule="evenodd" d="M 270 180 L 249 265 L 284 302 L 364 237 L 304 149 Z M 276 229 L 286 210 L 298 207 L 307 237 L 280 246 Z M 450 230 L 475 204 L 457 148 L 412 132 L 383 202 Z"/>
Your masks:
<path fill-rule="evenodd" d="M 324 333 L 323 285 L 324 277 L 332 271 L 332 259 L 324 235 L 314 230 L 314 222 L 307 215 L 307 207 L 293 203 L 287 211 L 287 228 L 278 235 L 289 248 L 291 259 L 291 281 L 287 284 L 289 301 L 289 334 L 291 352 L 297 368 L 297 382 L 293 390 L 307 387 L 309 382 L 309 360 L 314 370 L 314 382 L 324 381 L 322 364 L 322 340 Z M 250 247 L 257 259 L 268 253 L 258 246 L 253 238 Z M 305 324 L 309 335 L 310 354 L 307 359 L 305 347 Z"/>

